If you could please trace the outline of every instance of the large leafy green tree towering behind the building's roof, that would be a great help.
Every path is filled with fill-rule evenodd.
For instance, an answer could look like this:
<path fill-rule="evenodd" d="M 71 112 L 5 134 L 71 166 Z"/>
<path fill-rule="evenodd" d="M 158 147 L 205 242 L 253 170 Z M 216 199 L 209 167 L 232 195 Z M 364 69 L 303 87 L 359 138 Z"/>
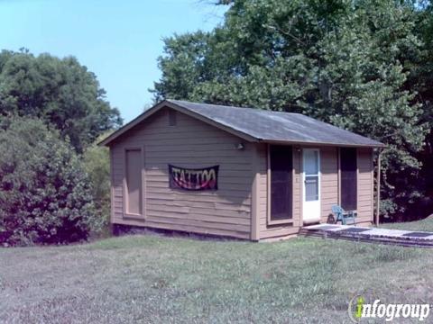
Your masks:
<path fill-rule="evenodd" d="M 155 100 L 302 112 L 381 140 L 388 145 L 383 213 L 410 210 L 426 192 L 419 153 L 428 122 L 410 87 L 412 65 L 423 55 L 419 6 L 394 0 L 219 3 L 230 6 L 214 31 L 165 40 Z"/>

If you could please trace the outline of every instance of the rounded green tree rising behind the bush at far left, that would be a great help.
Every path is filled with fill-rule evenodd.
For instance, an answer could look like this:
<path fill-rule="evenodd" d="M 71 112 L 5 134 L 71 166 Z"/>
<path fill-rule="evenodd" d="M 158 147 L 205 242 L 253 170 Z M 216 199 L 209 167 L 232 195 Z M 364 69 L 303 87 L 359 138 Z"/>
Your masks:
<path fill-rule="evenodd" d="M 122 124 L 105 94 L 77 58 L 35 57 L 25 49 L 0 53 L 0 114 L 40 118 L 78 152 Z"/>

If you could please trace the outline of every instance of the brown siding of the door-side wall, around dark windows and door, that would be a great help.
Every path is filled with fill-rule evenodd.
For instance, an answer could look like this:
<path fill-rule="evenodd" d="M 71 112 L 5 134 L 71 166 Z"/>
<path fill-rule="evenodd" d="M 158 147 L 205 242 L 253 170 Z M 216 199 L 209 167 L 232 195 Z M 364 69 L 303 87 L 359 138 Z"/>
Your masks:
<path fill-rule="evenodd" d="M 298 233 L 303 226 L 302 221 L 302 157 L 303 147 L 293 149 L 293 222 L 284 225 L 268 224 L 268 164 L 267 146 L 261 145 L 258 149 L 260 157 L 259 166 L 259 236 L 263 238 L 284 237 Z M 307 148 L 307 147 L 306 147 Z M 339 193 L 339 149 L 336 147 L 320 147 L 320 222 L 327 222 L 328 215 L 332 212 L 334 204 L 340 203 Z M 357 211 L 356 223 L 362 225 L 371 224 L 373 221 L 373 149 L 357 149 Z"/>

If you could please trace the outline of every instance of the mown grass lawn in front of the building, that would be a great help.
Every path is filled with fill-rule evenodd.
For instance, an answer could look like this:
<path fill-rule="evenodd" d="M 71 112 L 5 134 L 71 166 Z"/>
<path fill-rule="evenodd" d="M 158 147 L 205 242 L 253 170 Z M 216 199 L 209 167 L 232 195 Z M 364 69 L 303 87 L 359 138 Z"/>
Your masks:
<path fill-rule="evenodd" d="M 433 220 L 393 227 L 433 231 Z M 433 249 L 320 238 L 3 248 L 0 322 L 346 323 L 357 293 L 431 303 L 432 268 Z"/>

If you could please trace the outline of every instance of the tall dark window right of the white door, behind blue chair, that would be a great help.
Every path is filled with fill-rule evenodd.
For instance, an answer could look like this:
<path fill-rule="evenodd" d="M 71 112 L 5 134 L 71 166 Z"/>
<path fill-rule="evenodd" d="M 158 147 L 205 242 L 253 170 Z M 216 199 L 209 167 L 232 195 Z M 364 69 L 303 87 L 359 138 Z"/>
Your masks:
<path fill-rule="evenodd" d="M 340 148 L 341 207 L 346 211 L 356 210 L 357 164 L 356 148 Z"/>

